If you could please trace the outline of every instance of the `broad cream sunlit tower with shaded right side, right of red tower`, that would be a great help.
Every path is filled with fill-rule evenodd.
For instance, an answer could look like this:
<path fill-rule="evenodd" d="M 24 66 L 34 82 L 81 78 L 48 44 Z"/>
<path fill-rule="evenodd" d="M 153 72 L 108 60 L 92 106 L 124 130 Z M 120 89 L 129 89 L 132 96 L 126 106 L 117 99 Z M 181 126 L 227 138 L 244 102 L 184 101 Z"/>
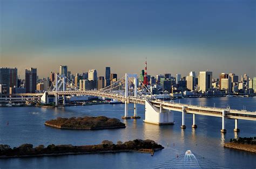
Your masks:
<path fill-rule="evenodd" d="M 212 72 L 200 72 L 199 73 L 199 89 L 203 92 L 212 88 Z"/>

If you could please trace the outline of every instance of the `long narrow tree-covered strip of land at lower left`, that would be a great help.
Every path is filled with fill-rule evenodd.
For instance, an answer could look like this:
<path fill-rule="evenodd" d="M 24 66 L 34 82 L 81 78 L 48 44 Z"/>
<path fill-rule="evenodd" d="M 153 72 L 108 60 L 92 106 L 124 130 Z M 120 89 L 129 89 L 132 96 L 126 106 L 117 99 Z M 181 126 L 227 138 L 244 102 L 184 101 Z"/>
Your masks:
<path fill-rule="evenodd" d="M 13 158 L 13 157 L 37 157 L 37 156 L 57 156 L 66 154 L 85 154 L 85 153 L 116 153 L 116 152 L 145 152 L 153 153 L 154 151 L 164 149 L 163 146 L 157 144 L 153 140 L 135 139 L 117 144 L 109 140 L 104 140 L 102 144 L 98 145 L 39 145 L 33 147 L 32 144 L 22 144 L 19 147 L 11 147 L 9 145 L 0 144 L 0 158 Z"/>

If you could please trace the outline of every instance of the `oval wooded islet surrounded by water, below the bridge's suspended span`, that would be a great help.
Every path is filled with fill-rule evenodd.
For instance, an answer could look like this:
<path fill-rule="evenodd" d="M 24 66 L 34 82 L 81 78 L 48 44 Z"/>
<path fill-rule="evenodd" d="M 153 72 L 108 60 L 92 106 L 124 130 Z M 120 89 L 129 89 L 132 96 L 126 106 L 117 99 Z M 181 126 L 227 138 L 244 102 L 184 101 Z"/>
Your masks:
<path fill-rule="evenodd" d="M 98 117 L 71 117 L 51 119 L 44 123 L 59 129 L 77 129 L 77 130 L 98 130 L 98 129 L 119 129 L 125 128 L 125 124 L 117 118 Z"/>

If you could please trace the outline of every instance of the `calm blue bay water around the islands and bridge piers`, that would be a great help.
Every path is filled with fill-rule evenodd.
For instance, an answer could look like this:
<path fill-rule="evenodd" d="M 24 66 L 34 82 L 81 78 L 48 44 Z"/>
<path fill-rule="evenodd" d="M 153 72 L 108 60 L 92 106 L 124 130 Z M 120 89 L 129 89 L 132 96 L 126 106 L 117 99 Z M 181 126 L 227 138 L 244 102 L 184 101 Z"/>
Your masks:
<path fill-rule="evenodd" d="M 179 102 L 179 100 L 176 100 Z M 180 103 L 204 104 L 233 109 L 256 110 L 256 97 L 219 97 L 219 98 L 184 98 Z M 129 109 L 132 115 L 132 104 Z M 153 157 L 147 153 L 105 153 L 67 155 L 56 157 L 0 159 L 0 168 L 255 168 L 256 154 L 224 149 L 224 141 L 234 137 L 256 136 L 256 122 L 239 120 L 240 133 L 233 132 L 234 120 L 226 119 L 226 135 L 220 132 L 221 118 L 196 115 L 196 130 L 191 128 L 192 115 L 186 115 L 187 129 L 180 129 L 181 112 L 174 112 L 174 125 L 153 125 L 143 123 L 144 106 L 138 106 L 141 119 L 122 121 L 125 129 L 114 130 L 60 130 L 44 125 L 48 119 L 72 116 L 99 116 L 120 118 L 124 115 L 124 104 L 102 104 L 65 108 L 0 108 L 0 144 L 19 146 L 31 143 L 39 144 L 99 144 L 104 139 L 117 142 L 127 140 L 152 139 L 165 147 Z M 9 125 L 6 122 L 9 121 Z M 174 145 L 173 145 L 174 144 Z M 167 146 L 168 145 L 168 146 Z M 191 150 L 194 158 L 185 157 L 186 150 Z M 178 154 L 178 158 L 177 158 Z M 196 160 L 196 161 L 195 161 Z M 196 164 L 196 165 L 193 165 Z"/>

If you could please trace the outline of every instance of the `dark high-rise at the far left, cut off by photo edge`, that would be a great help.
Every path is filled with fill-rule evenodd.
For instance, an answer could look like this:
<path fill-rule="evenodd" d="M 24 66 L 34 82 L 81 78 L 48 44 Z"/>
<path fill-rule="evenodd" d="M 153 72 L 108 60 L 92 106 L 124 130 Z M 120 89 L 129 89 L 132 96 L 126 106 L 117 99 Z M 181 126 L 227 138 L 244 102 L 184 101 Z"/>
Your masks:
<path fill-rule="evenodd" d="M 7 67 L 0 67 L 0 87 L 1 93 L 9 94 L 10 91 L 10 69 Z"/>

